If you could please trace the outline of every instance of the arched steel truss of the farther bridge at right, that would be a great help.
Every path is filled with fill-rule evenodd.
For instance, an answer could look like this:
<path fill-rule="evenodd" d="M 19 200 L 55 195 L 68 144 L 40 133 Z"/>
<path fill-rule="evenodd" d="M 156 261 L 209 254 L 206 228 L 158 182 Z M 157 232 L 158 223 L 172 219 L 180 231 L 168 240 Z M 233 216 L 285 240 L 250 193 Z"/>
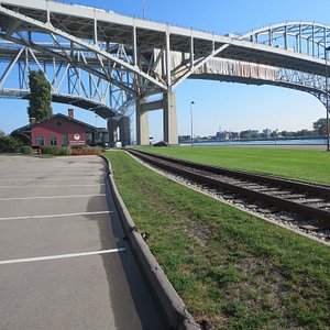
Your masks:
<path fill-rule="evenodd" d="M 328 64 L 328 58 L 326 59 L 326 56 L 328 57 L 326 48 L 330 44 L 330 28 L 323 24 L 309 22 L 286 22 L 283 24 L 276 24 L 255 30 L 244 34 L 243 36 L 231 36 L 239 40 L 250 41 L 252 43 L 267 45 L 272 48 L 308 55 L 324 61 L 326 65 Z M 251 66 L 258 65 L 257 62 L 252 63 L 238 61 L 237 63 L 243 63 Z M 270 67 L 276 67 L 276 65 Z M 252 85 L 274 85 L 301 90 L 314 95 L 324 106 L 327 105 L 327 95 L 329 94 L 329 90 L 327 90 L 326 66 L 322 72 L 304 70 L 304 66 L 300 69 L 290 68 L 289 66 L 278 66 L 276 77 L 274 79 L 266 79 L 253 75 L 246 77 L 245 75 L 233 73 L 229 73 L 227 75 L 210 75 L 207 73 L 207 70 L 199 70 L 197 73 L 195 72 L 190 77 L 195 79 L 216 79 Z"/>

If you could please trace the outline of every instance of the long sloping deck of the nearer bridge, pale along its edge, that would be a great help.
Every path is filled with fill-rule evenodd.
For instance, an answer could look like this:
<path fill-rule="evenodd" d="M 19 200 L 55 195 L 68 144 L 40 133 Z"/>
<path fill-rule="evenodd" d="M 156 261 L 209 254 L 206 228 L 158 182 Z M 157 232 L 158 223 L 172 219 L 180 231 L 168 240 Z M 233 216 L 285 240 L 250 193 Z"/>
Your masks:
<path fill-rule="evenodd" d="M 132 29 L 134 26 L 136 29 L 136 37 L 144 48 L 162 48 L 165 35 L 169 33 L 170 50 L 174 52 L 189 53 L 190 40 L 194 37 L 196 57 L 210 54 L 213 46 L 217 50 L 224 44 L 229 44 L 229 47 L 217 56 L 324 75 L 324 61 L 321 58 L 280 47 L 251 43 L 240 36 L 216 35 L 208 32 L 129 18 L 103 10 L 77 6 L 73 8 L 73 6 L 52 1 L 7 0 L 1 1 L 1 4 L 12 12 L 44 23 L 50 14 L 50 20 L 54 28 L 81 40 L 94 40 L 94 24 L 97 20 L 98 41 L 100 42 L 110 41 L 111 43 L 132 45 Z M 3 28 L 10 29 L 13 25 L 12 20 L 4 11 L 0 13 L 0 21 Z M 29 30 L 29 26 L 28 22 L 21 22 L 20 29 Z M 111 35 L 111 40 L 109 40 L 109 35 Z"/>

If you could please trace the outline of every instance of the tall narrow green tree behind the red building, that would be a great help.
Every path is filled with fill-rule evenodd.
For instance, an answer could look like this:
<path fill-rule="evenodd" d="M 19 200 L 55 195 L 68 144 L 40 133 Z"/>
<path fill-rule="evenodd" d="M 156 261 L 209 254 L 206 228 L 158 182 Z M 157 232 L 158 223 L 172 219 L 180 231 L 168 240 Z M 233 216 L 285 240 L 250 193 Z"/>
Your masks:
<path fill-rule="evenodd" d="M 28 114 L 36 121 L 48 119 L 53 114 L 52 86 L 42 70 L 31 70 L 29 74 L 29 87 L 31 91 Z"/>

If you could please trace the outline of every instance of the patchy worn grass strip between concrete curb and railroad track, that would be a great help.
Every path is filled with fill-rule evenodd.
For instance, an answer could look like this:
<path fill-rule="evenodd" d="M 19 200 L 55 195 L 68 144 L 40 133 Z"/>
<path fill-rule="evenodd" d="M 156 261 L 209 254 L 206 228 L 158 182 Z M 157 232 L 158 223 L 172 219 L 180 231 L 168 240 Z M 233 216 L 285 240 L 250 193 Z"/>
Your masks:
<path fill-rule="evenodd" d="M 172 150 L 172 148 L 168 148 Z M 211 329 L 329 329 L 330 250 L 105 154 L 189 311 Z"/>

